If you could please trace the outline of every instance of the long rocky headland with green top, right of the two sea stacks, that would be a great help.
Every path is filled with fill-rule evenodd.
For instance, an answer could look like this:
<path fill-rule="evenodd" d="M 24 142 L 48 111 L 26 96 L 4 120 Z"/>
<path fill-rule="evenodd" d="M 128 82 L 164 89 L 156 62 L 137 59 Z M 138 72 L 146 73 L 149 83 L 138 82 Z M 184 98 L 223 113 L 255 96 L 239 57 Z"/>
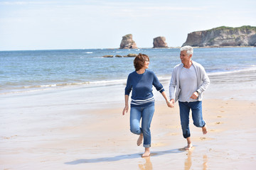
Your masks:
<path fill-rule="evenodd" d="M 182 46 L 221 47 L 221 46 L 256 46 L 256 27 L 242 26 L 218 27 L 210 30 L 188 33 Z"/>

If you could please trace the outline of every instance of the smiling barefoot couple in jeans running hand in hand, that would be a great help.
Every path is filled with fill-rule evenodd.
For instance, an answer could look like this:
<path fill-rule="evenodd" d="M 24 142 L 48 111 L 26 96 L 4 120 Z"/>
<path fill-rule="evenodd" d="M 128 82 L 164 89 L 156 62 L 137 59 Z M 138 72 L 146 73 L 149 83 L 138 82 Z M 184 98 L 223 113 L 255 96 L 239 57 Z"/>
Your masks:
<path fill-rule="evenodd" d="M 184 149 L 189 150 L 193 147 L 191 142 L 191 133 L 189 130 L 189 112 L 192 111 L 193 124 L 202 128 L 203 134 L 207 133 L 206 122 L 202 115 L 202 93 L 210 84 L 210 79 L 201 64 L 191 60 L 193 47 L 181 47 L 181 64 L 176 65 L 171 74 L 169 84 L 170 101 L 168 100 L 164 87 L 157 79 L 156 74 L 147 70 L 149 68 L 149 57 L 139 54 L 134 59 L 135 71 L 130 73 L 125 87 L 125 106 L 122 114 L 129 110 L 129 94 L 132 91 L 130 103 L 130 130 L 139 135 L 137 145 L 145 147 L 142 157 L 149 157 L 151 147 L 150 124 L 154 115 L 154 95 L 152 86 L 166 100 L 167 106 L 174 108 L 174 103 L 178 101 L 181 128 L 183 137 L 187 140 L 187 146 Z M 142 120 L 142 127 L 140 127 Z"/>

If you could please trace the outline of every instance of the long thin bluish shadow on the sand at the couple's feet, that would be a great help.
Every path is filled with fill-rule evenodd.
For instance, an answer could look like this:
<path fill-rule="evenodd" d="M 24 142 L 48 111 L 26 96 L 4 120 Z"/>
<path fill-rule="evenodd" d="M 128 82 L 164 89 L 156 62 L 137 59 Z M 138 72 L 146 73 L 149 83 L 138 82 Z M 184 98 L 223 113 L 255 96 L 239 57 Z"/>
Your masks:
<path fill-rule="evenodd" d="M 166 151 L 160 151 L 160 152 L 151 152 L 150 156 L 151 157 L 158 157 L 163 154 L 175 154 L 175 153 L 180 153 L 184 152 L 184 149 L 171 149 L 171 150 L 166 150 Z M 97 162 L 115 162 L 119 161 L 122 159 L 134 159 L 134 158 L 139 158 L 142 157 L 142 154 L 123 154 L 123 155 L 118 155 L 116 157 L 102 157 L 102 158 L 95 158 L 95 159 L 78 159 L 73 162 L 65 162 L 65 164 L 86 164 L 86 163 L 97 163 Z"/>

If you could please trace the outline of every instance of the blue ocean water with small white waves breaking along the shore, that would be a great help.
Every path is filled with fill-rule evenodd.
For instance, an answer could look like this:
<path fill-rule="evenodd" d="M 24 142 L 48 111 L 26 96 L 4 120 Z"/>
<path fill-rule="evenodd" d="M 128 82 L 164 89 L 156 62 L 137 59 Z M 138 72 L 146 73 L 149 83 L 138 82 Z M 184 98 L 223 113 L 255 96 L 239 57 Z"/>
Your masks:
<path fill-rule="evenodd" d="M 180 63 L 179 49 L 85 49 L 0 52 L 0 95 L 125 84 L 134 57 L 102 57 L 143 53 L 160 81 L 169 81 Z M 194 48 L 193 60 L 208 74 L 256 70 L 255 47 Z"/>

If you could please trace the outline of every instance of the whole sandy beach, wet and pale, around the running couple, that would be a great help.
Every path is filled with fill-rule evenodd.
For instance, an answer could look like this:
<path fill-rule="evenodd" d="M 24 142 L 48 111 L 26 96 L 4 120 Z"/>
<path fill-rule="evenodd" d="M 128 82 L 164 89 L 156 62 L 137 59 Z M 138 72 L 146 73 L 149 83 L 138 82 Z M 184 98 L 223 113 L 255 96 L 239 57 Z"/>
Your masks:
<path fill-rule="evenodd" d="M 124 85 L 114 96 L 111 86 L 104 87 L 104 102 L 89 102 L 82 88 L 3 95 L 0 169 L 255 169 L 255 75 L 210 76 L 203 100 L 208 134 L 191 120 L 191 151 L 182 149 L 178 103 L 168 108 L 155 94 L 147 158 L 129 131 L 129 114 L 122 115 Z M 164 87 L 169 93 L 167 81 Z"/>

